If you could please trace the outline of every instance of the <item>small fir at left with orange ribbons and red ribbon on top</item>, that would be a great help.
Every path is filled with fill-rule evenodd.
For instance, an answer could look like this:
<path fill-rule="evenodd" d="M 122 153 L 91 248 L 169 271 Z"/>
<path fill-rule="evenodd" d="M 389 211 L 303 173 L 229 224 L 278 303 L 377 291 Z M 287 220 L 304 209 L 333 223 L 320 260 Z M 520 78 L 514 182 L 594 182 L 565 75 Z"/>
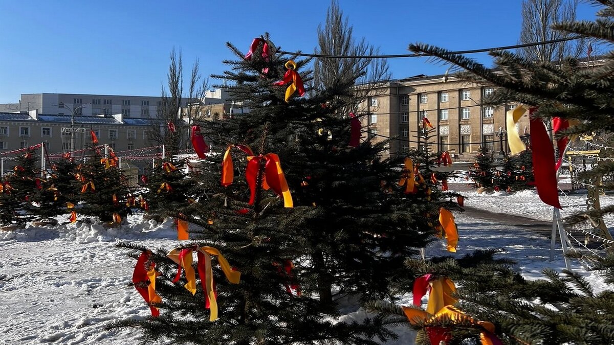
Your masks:
<path fill-rule="evenodd" d="M 97 217 L 101 222 L 120 224 L 130 212 L 130 188 L 111 149 L 104 155 L 102 146 L 93 146 L 85 163 L 77 166 L 76 180 L 80 184 L 81 207 L 76 215 Z M 73 214 L 74 217 L 74 214 Z"/>

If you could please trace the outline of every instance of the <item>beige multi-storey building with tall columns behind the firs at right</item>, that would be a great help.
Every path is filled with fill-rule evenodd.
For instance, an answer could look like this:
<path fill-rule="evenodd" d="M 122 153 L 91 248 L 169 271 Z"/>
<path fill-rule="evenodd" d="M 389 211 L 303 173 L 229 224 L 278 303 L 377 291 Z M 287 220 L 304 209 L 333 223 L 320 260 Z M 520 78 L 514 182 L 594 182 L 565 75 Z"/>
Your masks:
<path fill-rule="evenodd" d="M 507 152 L 505 112 L 516 104 L 491 107 L 481 104 L 484 96 L 494 91 L 449 76 L 415 76 L 382 83 L 360 104 L 363 129 L 376 140 L 395 137 L 390 155 L 402 154 L 410 148 L 449 151 L 454 158 L 473 158 L 480 145 L 494 152 Z M 429 140 L 422 135 L 422 118 L 433 125 Z M 529 131 L 529 118 L 524 114 L 517 125 L 521 136 Z"/>

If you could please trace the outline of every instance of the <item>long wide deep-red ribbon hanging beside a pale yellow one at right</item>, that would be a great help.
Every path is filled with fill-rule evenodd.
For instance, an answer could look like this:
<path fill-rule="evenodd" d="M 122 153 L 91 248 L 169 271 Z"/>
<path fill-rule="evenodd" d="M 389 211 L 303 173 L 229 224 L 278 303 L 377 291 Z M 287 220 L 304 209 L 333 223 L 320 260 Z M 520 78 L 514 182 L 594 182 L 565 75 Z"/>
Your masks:
<path fill-rule="evenodd" d="M 529 116 L 534 109 L 529 110 Z M 546 132 L 546 126 L 541 118 L 530 116 L 532 160 L 537 185 L 537 194 L 540 199 L 550 206 L 562 209 L 559 203 L 559 194 L 556 187 L 556 168 L 554 167 L 554 148 Z"/>

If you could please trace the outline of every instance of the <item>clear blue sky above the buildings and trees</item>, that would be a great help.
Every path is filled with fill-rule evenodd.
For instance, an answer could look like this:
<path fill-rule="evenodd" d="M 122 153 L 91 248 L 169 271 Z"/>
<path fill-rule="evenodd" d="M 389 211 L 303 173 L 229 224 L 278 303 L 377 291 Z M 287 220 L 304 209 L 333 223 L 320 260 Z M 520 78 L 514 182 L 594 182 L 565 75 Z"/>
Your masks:
<path fill-rule="evenodd" d="M 382 53 L 410 42 L 452 50 L 518 42 L 521 0 L 340 0 L 357 37 Z M 181 48 L 188 67 L 220 74 L 254 37 L 271 34 L 283 50 L 313 52 L 329 0 L 313 1 L 0 1 L 0 103 L 21 93 L 160 95 L 168 55 Z M 578 18 L 594 18 L 582 3 Z M 488 56 L 474 55 L 489 63 Z M 394 78 L 439 74 L 424 58 L 391 59 Z M 216 80 L 209 80 L 209 84 Z"/>

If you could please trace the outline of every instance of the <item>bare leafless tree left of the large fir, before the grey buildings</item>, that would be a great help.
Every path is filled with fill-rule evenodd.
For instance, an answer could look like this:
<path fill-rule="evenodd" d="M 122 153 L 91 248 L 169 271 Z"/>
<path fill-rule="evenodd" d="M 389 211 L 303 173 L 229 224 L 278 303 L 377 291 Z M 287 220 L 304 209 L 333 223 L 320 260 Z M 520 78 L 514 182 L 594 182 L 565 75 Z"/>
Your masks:
<path fill-rule="evenodd" d="M 168 91 L 162 85 L 158 106 L 158 122 L 152 122 L 147 136 L 152 144 L 165 145 L 168 155 L 176 155 L 181 149 L 190 145 L 190 123 L 200 114 L 203 106 L 204 93 L 207 90 L 207 79 L 200 74 L 198 59 L 192 65 L 188 94 L 184 96 L 184 71 L 181 50 L 179 56 L 173 48 L 168 66 Z M 171 130 L 174 128 L 174 131 Z"/>

